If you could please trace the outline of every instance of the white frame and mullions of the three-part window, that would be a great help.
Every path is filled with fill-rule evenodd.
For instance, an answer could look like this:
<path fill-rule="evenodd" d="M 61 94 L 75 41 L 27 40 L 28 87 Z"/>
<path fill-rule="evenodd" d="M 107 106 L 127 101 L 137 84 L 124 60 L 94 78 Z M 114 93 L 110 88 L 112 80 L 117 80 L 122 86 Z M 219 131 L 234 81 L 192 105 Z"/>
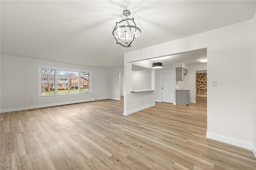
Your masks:
<path fill-rule="evenodd" d="M 74 71 L 78 72 L 78 93 L 69 93 L 69 94 L 58 94 L 58 88 L 54 87 L 54 95 L 42 95 L 42 81 L 41 81 L 41 70 L 42 69 L 52 69 L 54 70 L 54 86 L 58 86 L 58 70 L 65 70 L 65 71 Z M 81 93 L 81 75 L 82 73 L 89 73 L 89 87 L 88 93 Z M 84 71 L 84 70 L 76 70 L 76 69 L 66 69 L 66 68 L 58 68 L 58 67 L 47 67 L 47 66 L 38 66 L 38 98 L 45 98 L 45 97 L 59 97 L 59 96 L 74 96 L 74 95 L 88 95 L 92 94 L 92 71 Z"/>

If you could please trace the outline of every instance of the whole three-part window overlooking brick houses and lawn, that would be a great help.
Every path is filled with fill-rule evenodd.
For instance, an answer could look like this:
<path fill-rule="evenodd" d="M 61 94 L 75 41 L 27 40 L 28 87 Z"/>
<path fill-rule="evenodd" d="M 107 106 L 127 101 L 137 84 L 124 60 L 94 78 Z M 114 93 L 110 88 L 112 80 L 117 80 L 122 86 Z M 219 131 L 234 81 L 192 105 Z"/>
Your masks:
<path fill-rule="evenodd" d="M 90 94 L 90 71 L 39 66 L 38 96 Z"/>

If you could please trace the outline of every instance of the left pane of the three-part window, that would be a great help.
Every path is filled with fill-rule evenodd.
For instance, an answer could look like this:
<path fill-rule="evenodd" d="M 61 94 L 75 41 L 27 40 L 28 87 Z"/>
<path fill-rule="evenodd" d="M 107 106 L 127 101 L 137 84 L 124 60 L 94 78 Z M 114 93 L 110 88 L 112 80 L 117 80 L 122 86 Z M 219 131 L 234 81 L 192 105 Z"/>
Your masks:
<path fill-rule="evenodd" d="M 54 95 L 54 69 L 41 69 L 41 95 Z"/>

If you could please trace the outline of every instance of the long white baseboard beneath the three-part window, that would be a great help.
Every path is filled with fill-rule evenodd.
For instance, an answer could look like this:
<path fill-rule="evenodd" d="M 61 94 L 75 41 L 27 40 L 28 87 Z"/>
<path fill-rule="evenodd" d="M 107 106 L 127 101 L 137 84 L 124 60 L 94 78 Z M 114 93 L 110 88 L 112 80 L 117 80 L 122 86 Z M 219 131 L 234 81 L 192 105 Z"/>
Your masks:
<path fill-rule="evenodd" d="M 37 109 L 37 108 L 42 108 L 42 107 L 68 105 L 68 104 L 82 103 L 82 102 L 87 102 L 87 101 L 96 101 L 96 100 L 103 100 L 103 99 L 108 99 L 108 97 L 101 97 L 101 98 L 96 98 L 96 99 L 85 99 L 85 100 L 78 100 L 78 101 L 68 101 L 68 102 L 62 102 L 62 103 L 50 103 L 50 104 L 45 104 L 45 105 L 16 107 L 16 108 L 10 108 L 10 109 L 1 109 L 0 113 L 13 112 L 13 111 L 22 111 L 22 110 L 28 110 L 28 109 Z"/>

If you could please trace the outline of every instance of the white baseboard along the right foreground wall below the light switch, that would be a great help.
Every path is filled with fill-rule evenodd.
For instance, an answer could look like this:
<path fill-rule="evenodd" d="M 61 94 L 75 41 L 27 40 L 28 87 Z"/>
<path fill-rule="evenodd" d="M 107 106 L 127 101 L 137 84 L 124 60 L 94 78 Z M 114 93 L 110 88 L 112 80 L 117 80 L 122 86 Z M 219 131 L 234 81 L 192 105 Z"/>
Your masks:
<path fill-rule="evenodd" d="M 253 146 L 251 142 L 247 142 L 247 141 L 236 139 L 236 138 L 230 138 L 228 136 L 223 136 L 223 135 L 215 134 L 212 132 L 206 132 L 206 138 L 218 140 L 220 142 L 232 144 L 232 145 L 239 146 L 241 148 L 250 149 L 250 150 L 252 149 L 252 146 Z"/>

